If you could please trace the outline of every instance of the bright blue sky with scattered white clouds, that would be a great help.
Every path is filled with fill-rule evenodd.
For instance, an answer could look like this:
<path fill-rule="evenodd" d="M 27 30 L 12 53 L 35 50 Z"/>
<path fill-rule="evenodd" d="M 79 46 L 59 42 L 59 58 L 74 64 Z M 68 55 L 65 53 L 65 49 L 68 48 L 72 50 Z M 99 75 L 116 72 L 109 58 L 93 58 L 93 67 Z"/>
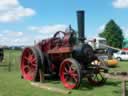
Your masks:
<path fill-rule="evenodd" d="M 128 0 L 0 0 L 0 45 L 33 45 L 70 24 L 85 11 L 85 36 L 93 38 L 110 19 L 128 37 Z"/>

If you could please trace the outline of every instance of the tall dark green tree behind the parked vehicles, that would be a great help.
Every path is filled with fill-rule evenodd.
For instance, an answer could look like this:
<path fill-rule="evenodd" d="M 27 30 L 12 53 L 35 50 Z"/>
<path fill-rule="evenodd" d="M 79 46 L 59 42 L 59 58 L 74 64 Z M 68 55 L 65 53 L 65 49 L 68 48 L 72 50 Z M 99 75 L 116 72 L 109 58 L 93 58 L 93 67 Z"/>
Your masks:
<path fill-rule="evenodd" d="M 123 32 L 114 20 L 110 20 L 106 24 L 104 31 L 100 33 L 99 36 L 105 38 L 108 45 L 116 48 L 122 48 L 124 39 Z"/>

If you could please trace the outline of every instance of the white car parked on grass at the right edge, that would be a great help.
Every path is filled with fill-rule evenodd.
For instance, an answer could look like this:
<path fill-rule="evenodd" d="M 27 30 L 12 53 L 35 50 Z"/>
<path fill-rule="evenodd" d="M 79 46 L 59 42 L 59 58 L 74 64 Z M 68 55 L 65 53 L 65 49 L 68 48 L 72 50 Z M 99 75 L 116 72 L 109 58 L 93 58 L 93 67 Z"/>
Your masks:
<path fill-rule="evenodd" d="M 113 54 L 113 58 L 117 60 L 128 60 L 128 51 L 119 51 Z"/>

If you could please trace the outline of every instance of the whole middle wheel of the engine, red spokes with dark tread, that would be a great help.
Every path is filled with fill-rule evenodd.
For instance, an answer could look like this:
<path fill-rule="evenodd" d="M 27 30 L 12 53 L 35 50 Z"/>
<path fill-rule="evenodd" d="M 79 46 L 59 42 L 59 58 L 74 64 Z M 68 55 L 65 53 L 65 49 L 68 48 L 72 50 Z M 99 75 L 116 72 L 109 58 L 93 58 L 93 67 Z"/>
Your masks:
<path fill-rule="evenodd" d="M 60 66 L 60 79 L 66 88 L 78 88 L 81 81 L 80 64 L 74 59 L 65 59 Z"/>

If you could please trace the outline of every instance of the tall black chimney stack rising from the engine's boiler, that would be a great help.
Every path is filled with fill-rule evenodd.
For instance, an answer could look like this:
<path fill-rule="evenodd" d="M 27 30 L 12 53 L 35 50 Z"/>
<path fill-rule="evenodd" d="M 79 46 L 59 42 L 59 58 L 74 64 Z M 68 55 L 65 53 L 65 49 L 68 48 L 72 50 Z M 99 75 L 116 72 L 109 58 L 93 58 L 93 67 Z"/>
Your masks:
<path fill-rule="evenodd" d="M 78 39 L 81 43 L 84 42 L 84 11 L 77 11 L 77 23 L 78 23 Z"/>

